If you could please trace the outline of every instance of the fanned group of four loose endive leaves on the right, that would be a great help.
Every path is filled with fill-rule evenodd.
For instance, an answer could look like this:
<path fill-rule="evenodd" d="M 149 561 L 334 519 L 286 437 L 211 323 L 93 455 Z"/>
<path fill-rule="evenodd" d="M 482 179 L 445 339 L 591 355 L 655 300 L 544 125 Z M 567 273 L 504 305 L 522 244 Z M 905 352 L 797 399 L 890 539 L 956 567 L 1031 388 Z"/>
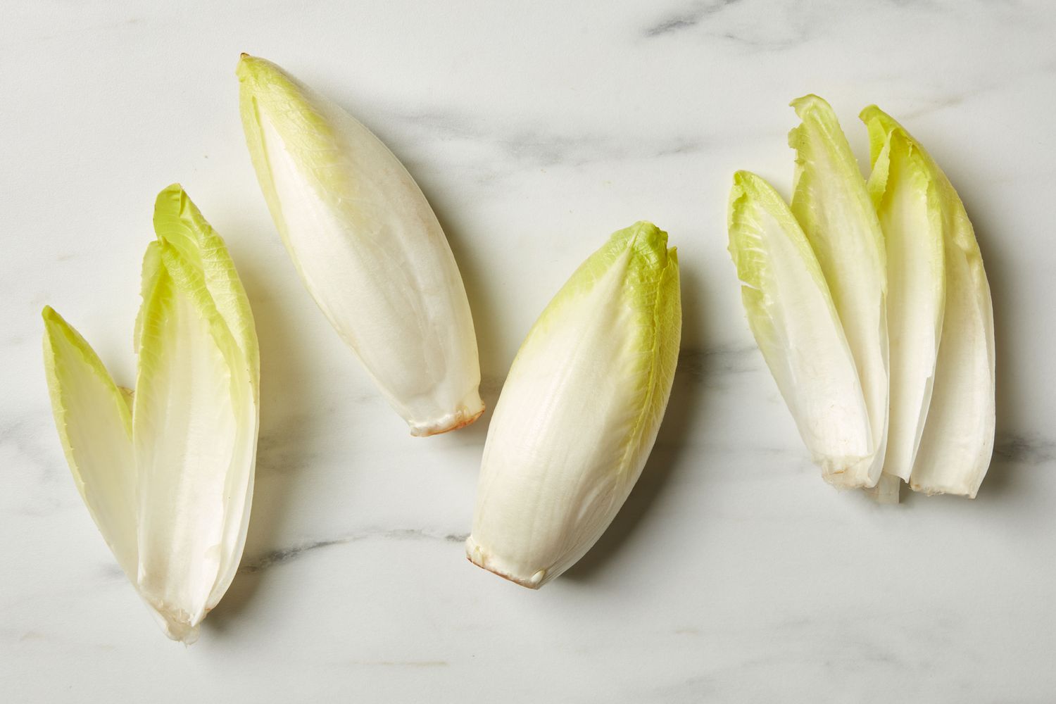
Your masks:
<path fill-rule="evenodd" d="M 901 481 L 974 497 L 994 444 L 994 321 L 964 206 L 875 106 L 861 115 L 868 182 L 829 104 L 792 106 L 791 207 L 746 171 L 730 194 L 759 348 L 827 481 L 884 501 Z"/>

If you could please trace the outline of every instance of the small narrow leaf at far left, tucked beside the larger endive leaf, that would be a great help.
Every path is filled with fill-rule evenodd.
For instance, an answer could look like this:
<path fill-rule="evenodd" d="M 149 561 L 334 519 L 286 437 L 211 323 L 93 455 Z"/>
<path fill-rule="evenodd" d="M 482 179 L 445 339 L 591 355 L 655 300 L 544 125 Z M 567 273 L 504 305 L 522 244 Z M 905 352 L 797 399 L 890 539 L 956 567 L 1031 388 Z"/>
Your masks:
<path fill-rule="evenodd" d="M 132 416 L 80 335 L 45 307 L 44 369 L 62 450 L 92 519 L 130 579 L 136 575 Z"/>

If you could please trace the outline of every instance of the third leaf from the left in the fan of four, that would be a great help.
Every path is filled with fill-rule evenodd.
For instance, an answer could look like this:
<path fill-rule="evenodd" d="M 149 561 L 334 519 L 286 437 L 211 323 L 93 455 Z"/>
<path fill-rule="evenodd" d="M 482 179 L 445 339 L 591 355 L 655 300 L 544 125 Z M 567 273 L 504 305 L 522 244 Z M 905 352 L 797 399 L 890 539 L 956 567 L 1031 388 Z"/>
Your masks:
<path fill-rule="evenodd" d="M 869 192 L 887 251 L 890 404 L 884 473 L 909 481 L 931 402 L 945 303 L 939 187 L 901 130 L 869 130 Z"/>

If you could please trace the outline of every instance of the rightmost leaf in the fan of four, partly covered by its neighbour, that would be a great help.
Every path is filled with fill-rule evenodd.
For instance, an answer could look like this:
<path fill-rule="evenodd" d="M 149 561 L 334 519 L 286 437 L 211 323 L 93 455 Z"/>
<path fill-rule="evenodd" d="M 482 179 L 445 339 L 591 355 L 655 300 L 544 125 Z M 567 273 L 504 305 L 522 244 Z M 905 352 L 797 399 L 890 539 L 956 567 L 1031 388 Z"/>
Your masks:
<path fill-rule="evenodd" d="M 909 484 L 929 494 L 975 497 L 989 467 L 995 424 L 994 309 L 982 255 L 961 198 L 928 153 L 875 106 L 866 108 L 862 119 L 873 145 L 901 139 L 917 155 L 932 185 L 942 228 L 942 335 Z"/>

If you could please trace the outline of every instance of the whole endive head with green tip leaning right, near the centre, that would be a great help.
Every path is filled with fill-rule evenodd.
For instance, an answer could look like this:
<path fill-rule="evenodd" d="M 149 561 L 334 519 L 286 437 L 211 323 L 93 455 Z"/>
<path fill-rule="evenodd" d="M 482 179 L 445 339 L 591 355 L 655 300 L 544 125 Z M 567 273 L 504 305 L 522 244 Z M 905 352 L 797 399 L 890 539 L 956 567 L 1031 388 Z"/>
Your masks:
<path fill-rule="evenodd" d="M 656 440 L 680 335 L 667 234 L 649 223 L 616 232 L 513 360 L 488 429 L 470 560 L 539 588 L 590 549 Z"/>

